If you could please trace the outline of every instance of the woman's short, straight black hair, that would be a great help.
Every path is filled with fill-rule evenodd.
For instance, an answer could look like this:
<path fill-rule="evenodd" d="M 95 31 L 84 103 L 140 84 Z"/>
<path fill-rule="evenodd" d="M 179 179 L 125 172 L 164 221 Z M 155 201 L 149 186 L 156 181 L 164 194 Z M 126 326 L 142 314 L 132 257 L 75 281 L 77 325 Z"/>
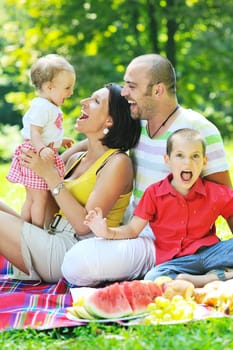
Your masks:
<path fill-rule="evenodd" d="M 109 148 L 127 151 L 137 145 L 141 134 L 141 122 L 131 118 L 128 101 L 121 96 L 122 87 L 115 83 L 105 85 L 109 90 L 109 114 L 113 126 L 101 142 Z"/>

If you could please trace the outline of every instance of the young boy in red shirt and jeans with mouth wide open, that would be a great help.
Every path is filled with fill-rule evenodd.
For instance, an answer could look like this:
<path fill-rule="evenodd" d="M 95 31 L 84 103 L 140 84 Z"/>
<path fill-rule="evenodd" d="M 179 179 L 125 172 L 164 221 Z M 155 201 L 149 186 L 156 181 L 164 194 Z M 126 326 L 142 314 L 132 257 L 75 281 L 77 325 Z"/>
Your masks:
<path fill-rule="evenodd" d="M 171 174 L 146 189 L 127 225 L 108 228 L 100 208 L 88 213 L 85 224 L 96 236 L 116 240 L 138 237 L 149 223 L 155 236 L 156 266 L 145 279 L 166 275 L 201 286 L 233 278 L 233 272 L 227 271 L 233 267 L 233 239 L 221 242 L 215 229 L 222 215 L 233 232 L 233 190 L 200 177 L 207 157 L 205 142 L 195 130 L 171 134 L 164 158 Z"/>

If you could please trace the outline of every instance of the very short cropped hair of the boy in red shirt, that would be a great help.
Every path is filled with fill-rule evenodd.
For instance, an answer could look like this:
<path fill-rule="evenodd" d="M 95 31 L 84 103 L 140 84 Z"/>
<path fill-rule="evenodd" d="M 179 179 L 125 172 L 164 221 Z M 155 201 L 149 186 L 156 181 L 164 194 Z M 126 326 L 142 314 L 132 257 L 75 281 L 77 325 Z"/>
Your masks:
<path fill-rule="evenodd" d="M 203 149 L 203 156 L 206 155 L 206 143 L 202 135 L 194 129 L 190 128 L 182 128 L 174 131 L 167 139 L 167 149 L 166 153 L 168 156 L 170 156 L 172 152 L 172 146 L 173 146 L 173 138 L 176 135 L 182 136 L 182 138 L 192 142 L 192 141 L 199 141 L 202 144 L 202 149 Z"/>

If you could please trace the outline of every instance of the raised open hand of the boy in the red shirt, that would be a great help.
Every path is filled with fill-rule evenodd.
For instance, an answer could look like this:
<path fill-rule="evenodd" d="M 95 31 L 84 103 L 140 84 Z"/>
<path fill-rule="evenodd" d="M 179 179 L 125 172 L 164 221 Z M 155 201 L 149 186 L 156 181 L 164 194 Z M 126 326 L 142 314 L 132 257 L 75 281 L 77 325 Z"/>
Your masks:
<path fill-rule="evenodd" d="M 86 215 L 84 224 L 87 225 L 91 231 L 97 236 L 108 239 L 108 227 L 106 218 L 103 218 L 103 213 L 100 208 L 90 210 Z"/>

